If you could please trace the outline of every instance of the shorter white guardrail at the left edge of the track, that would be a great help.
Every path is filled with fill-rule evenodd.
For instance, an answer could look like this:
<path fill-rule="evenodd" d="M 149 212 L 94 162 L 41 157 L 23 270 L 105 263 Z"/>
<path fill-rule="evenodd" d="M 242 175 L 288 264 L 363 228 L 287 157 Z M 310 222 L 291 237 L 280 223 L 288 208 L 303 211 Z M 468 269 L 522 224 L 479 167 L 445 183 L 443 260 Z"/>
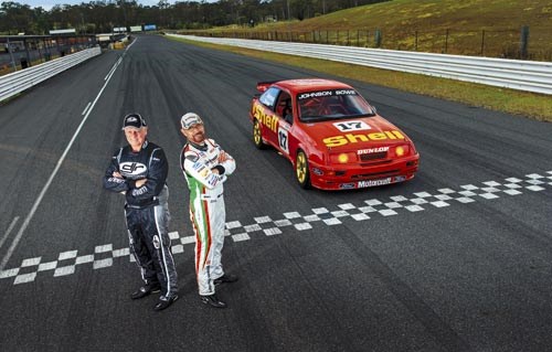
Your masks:
<path fill-rule="evenodd" d="M 0 76 L 0 102 L 99 54 L 102 54 L 99 47 L 86 49 L 36 66 Z"/>

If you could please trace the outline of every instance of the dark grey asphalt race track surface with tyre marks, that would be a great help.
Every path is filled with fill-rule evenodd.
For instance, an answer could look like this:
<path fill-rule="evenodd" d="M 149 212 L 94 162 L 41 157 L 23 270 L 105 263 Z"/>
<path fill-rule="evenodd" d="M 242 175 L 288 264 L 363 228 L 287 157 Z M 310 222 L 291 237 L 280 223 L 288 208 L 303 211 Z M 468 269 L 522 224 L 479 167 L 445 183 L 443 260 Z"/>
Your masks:
<path fill-rule="evenodd" d="M 412 137 L 420 172 L 304 191 L 283 157 L 254 148 L 247 109 L 257 81 L 311 76 L 140 36 L 0 106 L 0 350 L 550 350 L 552 125 L 346 81 Z M 155 296 L 129 298 L 140 280 L 124 200 L 102 189 L 130 111 L 170 163 L 180 299 L 162 312 Z M 237 163 L 223 264 L 240 281 L 217 290 L 225 310 L 197 295 L 187 111 Z"/>

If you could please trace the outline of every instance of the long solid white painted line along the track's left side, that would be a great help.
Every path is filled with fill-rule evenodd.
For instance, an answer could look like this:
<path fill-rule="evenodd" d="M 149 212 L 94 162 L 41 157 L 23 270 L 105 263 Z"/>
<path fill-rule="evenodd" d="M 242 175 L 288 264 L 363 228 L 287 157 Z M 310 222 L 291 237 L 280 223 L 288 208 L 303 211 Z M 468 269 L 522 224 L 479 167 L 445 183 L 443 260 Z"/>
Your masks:
<path fill-rule="evenodd" d="M 120 63 L 120 61 L 121 60 L 119 58 L 115 68 L 117 68 L 118 63 Z M 115 71 L 113 71 L 113 73 L 115 73 Z M 78 125 L 75 134 L 73 135 L 67 147 L 63 151 L 63 154 L 61 156 L 60 160 L 57 160 L 57 163 L 55 164 L 54 171 L 52 172 L 52 174 L 47 179 L 46 183 L 44 184 L 44 188 L 40 192 L 39 198 L 36 199 L 36 201 L 34 201 L 34 204 L 31 207 L 31 211 L 29 212 L 25 220 L 23 221 L 23 225 L 21 226 L 18 234 L 15 235 L 15 238 L 13 238 L 13 242 L 11 243 L 11 246 L 8 249 L 8 253 L 6 254 L 6 256 L 2 258 L 2 262 L 0 263 L 0 271 L 3 270 L 3 268 L 6 267 L 6 264 L 8 264 L 8 260 L 10 260 L 11 256 L 13 255 L 13 252 L 15 250 L 15 247 L 18 246 L 19 242 L 21 241 L 21 237 L 23 236 L 23 233 L 25 232 L 26 226 L 29 226 L 29 223 L 33 218 L 34 213 L 36 212 L 36 209 L 39 207 L 40 203 L 42 202 L 42 199 L 44 198 L 44 194 L 46 194 L 46 191 L 50 188 L 50 185 L 52 184 L 52 181 L 54 180 L 55 175 L 57 174 L 57 171 L 60 171 L 60 168 L 61 168 L 63 161 L 65 160 L 65 157 L 67 156 L 68 151 L 71 150 L 71 147 L 73 147 L 73 143 L 75 142 L 76 137 L 81 132 L 81 129 L 83 128 L 84 122 L 86 122 L 86 120 L 88 119 L 88 116 L 91 116 L 91 113 L 94 109 L 94 106 L 96 105 L 99 97 L 104 93 L 104 89 L 107 87 L 107 84 L 109 83 L 110 78 L 113 77 L 113 73 L 109 75 L 109 78 L 104 83 L 104 86 L 102 87 L 102 89 L 99 89 L 99 93 L 96 96 L 96 98 L 94 99 L 94 102 L 92 103 L 91 108 L 88 109 L 88 111 L 84 116 L 83 120 L 81 121 L 81 125 Z"/>

